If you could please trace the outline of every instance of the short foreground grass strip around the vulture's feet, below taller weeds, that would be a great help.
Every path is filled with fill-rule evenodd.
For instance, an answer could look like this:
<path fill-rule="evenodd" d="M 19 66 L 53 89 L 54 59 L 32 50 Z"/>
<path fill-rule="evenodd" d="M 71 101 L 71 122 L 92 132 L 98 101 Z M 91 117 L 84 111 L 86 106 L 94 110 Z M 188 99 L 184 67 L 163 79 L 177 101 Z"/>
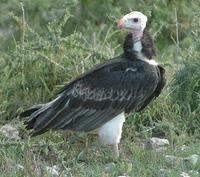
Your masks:
<path fill-rule="evenodd" d="M 70 133 L 61 136 L 59 133 L 52 132 L 30 140 L 6 141 L 5 146 L 1 146 L 0 150 L 0 170 L 3 176 L 51 176 L 45 170 L 46 166 L 58 165 L 61 176 L 65 174 L 80 177 L 115 177 L 124 174 L 155 177 L 159 175 L 160 169 L 166 170 L 167 177 L 175 177 L 184 171 L 198 171 L 199 163 L 190 165 L 181 162 L 170 165 L 166 162 L 165 155 L 178 157 L 200 155 L 199 141 L 189 137 L 176 137 L 176 140 L 173 146 L 169 146 L 162 152 L 156 152 L 141 149 L 138 145 L 139 139 L 136 137 L 131 140 L 130 137 L 123 136 L 120 158 L 114 159 L 110 149 L 101 146 L 95 134 L 80 136 Z M 185 151 L 180 150 L 183 144 L 188 146 Z M 115 163 L 115 166 L 111 171 L 106 172 L 105 164 L 110 162 Z M 25 169 L 13 169 L 16 164 L 23 165 Z M 41 175 L 36 175 L 37 169 Z M 191 176 L 195 177 L 195 174 Z"/>

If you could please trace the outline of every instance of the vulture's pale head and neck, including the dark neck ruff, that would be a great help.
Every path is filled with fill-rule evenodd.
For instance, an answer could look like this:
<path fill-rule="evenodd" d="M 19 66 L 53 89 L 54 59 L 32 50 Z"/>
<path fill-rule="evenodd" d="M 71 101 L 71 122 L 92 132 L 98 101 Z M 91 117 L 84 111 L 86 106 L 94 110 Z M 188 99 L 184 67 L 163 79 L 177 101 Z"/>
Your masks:
<path fill-rule="evenodd" d="M 117 26 L 120 29 L 129 30 L 123 46 L 126 54 L 132 55 L 134 52 L 142 52 L 142 55 L 148 59 L 155 56 L 153 40 L 145 30 L 146 23 L 147 16 L 138 11 L 133 11 L 118 21 Z"/>

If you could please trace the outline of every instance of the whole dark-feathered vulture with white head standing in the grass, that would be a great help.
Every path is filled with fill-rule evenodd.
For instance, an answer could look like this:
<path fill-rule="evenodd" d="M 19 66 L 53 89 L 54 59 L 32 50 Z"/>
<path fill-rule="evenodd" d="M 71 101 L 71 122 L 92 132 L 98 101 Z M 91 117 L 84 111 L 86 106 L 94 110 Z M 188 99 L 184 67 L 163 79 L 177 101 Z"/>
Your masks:
<path fill-rule="evenodd" d="M 21 113 L 33 136 L 49 129 L 98 130 L 103 144 L 119 155 L 122 127 L 130 113 L 140 112 L 159 96 L 165 69 L 153 57 L 154 44 L 145 29 L 147 17 L 133 11 L 118 21 L 128 29 L 123 54 L 95 66 L 65 85 L 53 100 Z"/>

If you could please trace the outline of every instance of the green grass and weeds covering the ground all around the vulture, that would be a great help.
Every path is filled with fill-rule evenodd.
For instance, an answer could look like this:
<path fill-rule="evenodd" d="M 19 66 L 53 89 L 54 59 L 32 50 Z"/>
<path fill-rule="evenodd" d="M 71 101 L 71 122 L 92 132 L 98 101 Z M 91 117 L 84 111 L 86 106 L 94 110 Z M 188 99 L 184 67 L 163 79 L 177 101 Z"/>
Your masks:
<path fill-rule="evenodd" d="M 46 165 L 58 165 L 60 176 L 155 177 L 163 168 L 169 170 L 167 177 L 178 177 L 183 171 L 199 171 L 200 163 L 169 166 L 164 158 L 200 156 L 199 7 L 199 1 L 188 0 L 0 0 L 0 125 L 17 125 L 22 137 L 0 136 L 0 176 L 50 176 Z M 121 158 L 114 160 L 107 147 L 100 147 L 95 132 L 30 138 L 17 114 L 50 100 L 95 64 L 118 56 L 126 32 L 116 28 L 116 20 L 131 10 L 148 16 L 156 60 L 168 81 L 148 109 L 127 120 Z M 168 138 L 170 148 L 158 153 L 137 145 L 151 136 Z M 186 151 L 180 151 L 183 144 Z M 104 165 L 113 161 L 114 170 L 105 173 Z M 25 169 L 16 170 L 15 164 Z"/>

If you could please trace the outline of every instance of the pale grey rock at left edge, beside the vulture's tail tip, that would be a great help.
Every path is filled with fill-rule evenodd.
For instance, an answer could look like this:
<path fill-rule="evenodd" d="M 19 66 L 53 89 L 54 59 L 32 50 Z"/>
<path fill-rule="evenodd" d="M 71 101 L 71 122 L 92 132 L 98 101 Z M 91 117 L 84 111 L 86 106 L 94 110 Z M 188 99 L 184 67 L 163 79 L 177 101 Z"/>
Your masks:
<path fill-rule="evenodd" d="M 5 124 L 0 128 L 0 133 L 9 139 L 20 139 L 17 128 L 10 124 Z"/>

